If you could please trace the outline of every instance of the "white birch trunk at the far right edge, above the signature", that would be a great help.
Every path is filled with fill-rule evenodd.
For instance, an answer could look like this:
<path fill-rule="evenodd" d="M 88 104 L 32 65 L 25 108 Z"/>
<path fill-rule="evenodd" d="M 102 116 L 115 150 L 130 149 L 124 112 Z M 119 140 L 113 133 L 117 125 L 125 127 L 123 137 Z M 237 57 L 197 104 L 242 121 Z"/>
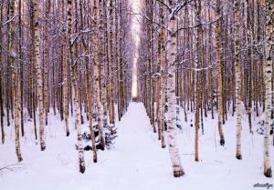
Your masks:
<path fill-rule="evenodd" d="M 274 2 L 273 0 L 266 1 L 267 10 L 267 34 L 266 34 L 266 44 L 265 44 L 265 62 L 264 62 L 264 74 L 265 74 L 265 85 L 266 85 L 266 108 L 265 108 L 265 137 L 264 137 L 264 175 L 267 177 L 272 176 L 272 170 L 270 165 L 270 150 L 269 150 L 269 133 L 270 133 L 270 117 L 272 110 L 272 89 L 271 89 L 271 76 L 272 76 L 272 65 L 273 65 L 273 55 L 272 55 L 272 45 L 274 44 L 273 32 L 274 32 Z"/>

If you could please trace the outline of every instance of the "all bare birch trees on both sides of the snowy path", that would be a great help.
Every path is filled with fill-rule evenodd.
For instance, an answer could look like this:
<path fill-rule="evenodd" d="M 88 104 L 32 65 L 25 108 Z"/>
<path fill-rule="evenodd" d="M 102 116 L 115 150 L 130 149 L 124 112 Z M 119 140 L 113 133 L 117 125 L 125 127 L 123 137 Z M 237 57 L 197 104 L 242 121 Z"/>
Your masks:
<path fill-rule="evenodd" d="M 74 117 L 79 171 L 84 173 L 81 125 L 89 123 L 89 148 L 97 162 L 97 149 L 108 144 L 104 129 L 113 128 L 116 115 L 121 120 L 133 93 L 143 102 L 162 147 L 168 147 L 175 177 L 184 175 L 176 133 L 189 112 L 195 115 L 197 162 L 205 117 L 216 118 L 220 145 L 227 142 L 223 125 L 230 115 L 237 117 L 239 160 L 242 128 L 253 135 L 253 117 L 261 117 L 264 175 L 270 177 L 274 2 L 140 2 L 140 13 L 134 13 L 127 0 L 0 0 L 2 144 L 14 125 L 20 162 L 26 118 L 44 151 L 48 114 L 59 116 L 67 136 L 73 129 L 68 118 Z M 139 37 L 132 35 L 134 16 L 140 18 Z M 137 77 L 138 83 L 132 83 Z M 248 115 L 248 126 L 242 125 L 243 115 Z"/>

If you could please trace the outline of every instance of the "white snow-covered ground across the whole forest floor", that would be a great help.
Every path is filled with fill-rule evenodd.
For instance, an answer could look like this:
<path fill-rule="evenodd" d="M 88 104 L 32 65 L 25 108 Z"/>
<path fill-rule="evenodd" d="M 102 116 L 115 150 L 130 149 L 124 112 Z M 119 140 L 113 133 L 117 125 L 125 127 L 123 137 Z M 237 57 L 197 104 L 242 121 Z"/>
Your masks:
<path fill-rule="evenodd" d="M 263 135 L 249 135 L 247 118 L 243 120 L 243 160 L 235 158 L 236 120 L 229 115 L 224 125 L 224 147 L 218 144 L 217 121 L 205 118 L 205 135 L 199 135 L 200 162 L 195 162 L 195 128 L 190 126 L 193 115 L 188 117 L 177 138 L 185 172 L 181 178 L 174 178 L 168 149 L 162 149 L 153 134 L 143 105 L 132 103 L 117 123 L 119 136 L 114 147 L 100 151 L 97 164 L 92 163 L 91 152 L 85 152 L 83 175 L 78 172 L 72 118 L 67 137 L 58 116 L 50 115 L 44 152 L 34 139 L 32 124 L 26 123 L 26 137 L 21 140 L 24 161 L 14 165 L 12 171 L 0 170 L 0 190 L 231 190 L 254 189 L 257 183 L 274 184 L 273 178 L 263 175 Z M 0 145 L 0 168 L 16 164 L 13 127 L 5 127 L 5 133 L 5 145 Z M 272 145 L 270 150 L 274 165 Z"/>

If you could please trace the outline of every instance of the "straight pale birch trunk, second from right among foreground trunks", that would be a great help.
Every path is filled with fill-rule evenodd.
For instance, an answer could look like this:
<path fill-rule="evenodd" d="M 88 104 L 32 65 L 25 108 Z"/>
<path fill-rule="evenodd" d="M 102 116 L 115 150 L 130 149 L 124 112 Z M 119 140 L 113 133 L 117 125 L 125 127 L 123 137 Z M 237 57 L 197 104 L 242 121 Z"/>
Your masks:
<path fill-rule="evenodd" d="M 235 22 L 236 22 L 236 35 L 235 35 L 235 96 L 236 96 L 236 115 L 237 115 L 237 146 L 236 146 L 236 157 L 242 159 L 241 153 L 241 130 L 242 130 L 242 101 L 241 101 L 241 73 L 240 73 L 240 1 L 235 2 Z"/>

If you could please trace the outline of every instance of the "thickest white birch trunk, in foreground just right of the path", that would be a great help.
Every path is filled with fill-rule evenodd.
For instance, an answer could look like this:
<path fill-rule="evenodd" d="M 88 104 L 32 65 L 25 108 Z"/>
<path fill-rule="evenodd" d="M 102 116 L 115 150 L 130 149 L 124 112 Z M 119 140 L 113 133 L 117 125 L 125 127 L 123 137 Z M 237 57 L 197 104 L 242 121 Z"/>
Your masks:
<path fill-rule="evenodd" d="M 174 1 L 170 1 L 170 5 L 174 6 Z M 184 175 L 184 170 L 181 165 L 179 150 L 176 145 L 176 95 L 175 95 L 175 57 L 176 57 L 176 34 L 177 28 L 176 17 L 173 14 L 168 18 L 168 29 L 170 33 L 167 37 L 167 63 L 168 63 L 168 120 L 167 120 L 167 144 L 169 148 L 169 154 L 171 157 L 172 165 L 174 168 L 174 176 L 180 177 Z"/>

